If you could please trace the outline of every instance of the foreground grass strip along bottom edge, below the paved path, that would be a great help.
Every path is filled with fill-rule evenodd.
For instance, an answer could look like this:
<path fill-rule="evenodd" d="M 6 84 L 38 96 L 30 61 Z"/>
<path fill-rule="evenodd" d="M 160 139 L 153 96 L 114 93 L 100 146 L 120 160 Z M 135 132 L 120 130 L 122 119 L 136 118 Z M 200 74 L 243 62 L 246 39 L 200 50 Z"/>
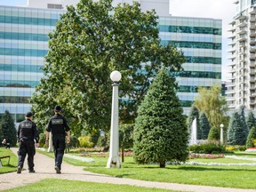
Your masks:
<path fill-rule="evenodd" d="M 142 188 L 128 185 L 115 185 L 115 184 L 102 184 L 94 182 L 74 181 L 74 180 L 57 180 L 57 179 L 45 179 L 39 182 L 29 184 L 25 187 L 12 188 L 10 190 L 4 190 L 5 192 L 167 192 L 173 190 L 165 190 L 160 188 Z M 177 192 L 177 191 L 176 191 Z"/>

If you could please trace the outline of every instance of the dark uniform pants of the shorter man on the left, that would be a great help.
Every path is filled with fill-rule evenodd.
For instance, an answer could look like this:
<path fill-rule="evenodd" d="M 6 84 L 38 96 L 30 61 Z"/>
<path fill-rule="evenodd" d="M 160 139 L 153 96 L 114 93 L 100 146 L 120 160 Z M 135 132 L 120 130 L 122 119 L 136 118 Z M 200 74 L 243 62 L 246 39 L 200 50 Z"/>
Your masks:
<path fill-rule="evenodd" d="M 32 171 L 34 170 L 34 156 L 36 154 L 36 148 L 35 148 L 35 142 L 32 140 L 25 140 L 20 141 L 19 143 L 19 160 L 18 160 L 18 166 L 23 168 L 23 164 L 26 158 L 26 155 L 28 154 L 28 170 Z"/>

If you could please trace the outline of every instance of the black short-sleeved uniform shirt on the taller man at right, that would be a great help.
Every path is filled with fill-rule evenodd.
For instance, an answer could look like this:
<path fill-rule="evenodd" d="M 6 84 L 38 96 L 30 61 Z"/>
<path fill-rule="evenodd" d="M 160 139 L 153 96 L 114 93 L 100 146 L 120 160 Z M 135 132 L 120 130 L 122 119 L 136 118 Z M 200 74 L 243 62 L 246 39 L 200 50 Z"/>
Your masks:
<path fill-rule="evenodd" d="M 49 121 L 49 124 L 46 128 L 47 132 L 52 132 L 52 135 L 64 135 L 65 132 L 70 130 L 67 120 L 60 114 L 55 114 Z"/>

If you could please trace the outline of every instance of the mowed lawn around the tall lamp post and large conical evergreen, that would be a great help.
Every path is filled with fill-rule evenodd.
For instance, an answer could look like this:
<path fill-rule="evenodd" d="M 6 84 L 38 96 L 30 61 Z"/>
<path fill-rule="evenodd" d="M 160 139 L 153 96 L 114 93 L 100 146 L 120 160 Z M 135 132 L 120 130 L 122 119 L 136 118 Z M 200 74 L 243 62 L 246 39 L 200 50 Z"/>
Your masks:
<path fill-rule="evenodd" d="M 53 154 L 46 154 L 48 156 L 53 156 Z M 256 155 L 250 157 L 256 157 Z M 256 182 L 254 180 L 256 166 L 166 165 L 165 168 L 159 168 L 158 164 L 135 164 L 132 156 L 125 156 L 121 169 L 107 169 L 106 165 L 108 157 L 92 158 L 95 160 L 93 163 L 85 163 L 67 157 L 64 157 L 64 161 L 69 164 L 84 166 L 85 171 L 102 173 L 120 178 L 224 188 L 256 188 Z M 192 159 L 191 161 L 196 161 L 196 159 Z M 229 158 L 197 159 L 197 161 L 224 164 L 256 163 L 255 161 Z"/>

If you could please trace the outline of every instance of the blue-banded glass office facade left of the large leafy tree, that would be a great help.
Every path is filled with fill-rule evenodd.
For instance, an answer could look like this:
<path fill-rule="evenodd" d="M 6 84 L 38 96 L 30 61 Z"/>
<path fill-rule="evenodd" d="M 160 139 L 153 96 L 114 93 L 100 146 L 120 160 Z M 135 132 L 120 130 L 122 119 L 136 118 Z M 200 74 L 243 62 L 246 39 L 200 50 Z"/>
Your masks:
<path fill-rule="evenodd" d="M 0 6 L 0 115 L 16 122 L 30 110 L 28 99 L 43 76 L 48 34 L 61 10 Z"/>

